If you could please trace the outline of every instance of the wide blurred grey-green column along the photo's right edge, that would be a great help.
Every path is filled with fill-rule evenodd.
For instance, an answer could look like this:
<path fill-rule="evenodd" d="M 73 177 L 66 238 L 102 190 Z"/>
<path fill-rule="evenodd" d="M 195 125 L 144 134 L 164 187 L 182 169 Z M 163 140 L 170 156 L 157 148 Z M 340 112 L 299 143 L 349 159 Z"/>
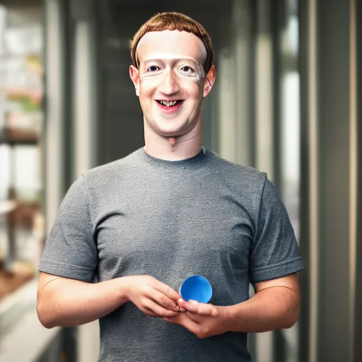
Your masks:
<path fill-rule="evenodd" d="M 300 361 L 356 362 L 361 358 L 357 341 L 362 322 L 356 303 L 361 301 L 357 286 L 362 284 L 357 258 L 361 69 L 356 52 L 361 25 L 358 33 L 355 0 L 300 1 L 300 20 L 300 246 L 307 267 L 302 280 Z"/>

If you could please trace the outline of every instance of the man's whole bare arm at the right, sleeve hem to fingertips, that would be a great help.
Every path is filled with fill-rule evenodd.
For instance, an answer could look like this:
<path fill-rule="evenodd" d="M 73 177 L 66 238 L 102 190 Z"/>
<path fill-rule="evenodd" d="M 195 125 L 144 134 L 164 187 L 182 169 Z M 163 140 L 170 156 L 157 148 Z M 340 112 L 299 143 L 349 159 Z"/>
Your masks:
<path fill-rule="evenodd" d="M 296 274 L 255 284 L 255 296 L 230 306 L 178 300 L 187 310 L 164 320 L 182 325 L 199 338 L 225 332 L 267 332 L 289 328 L 298 319 L 300 290 Z"/>

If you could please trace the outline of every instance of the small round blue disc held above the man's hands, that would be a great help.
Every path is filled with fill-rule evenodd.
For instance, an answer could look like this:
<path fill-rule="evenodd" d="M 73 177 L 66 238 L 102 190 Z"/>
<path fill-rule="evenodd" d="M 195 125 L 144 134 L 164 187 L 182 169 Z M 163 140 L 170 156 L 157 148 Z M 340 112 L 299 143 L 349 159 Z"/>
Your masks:
<path fill-rule="evenodd" d="M 192 299 L 199 303 L 208 303 L 212 296 L 212 287 L 204 276 L 193 275 L 181 284 L 180 295 L 187 302 Z"/>

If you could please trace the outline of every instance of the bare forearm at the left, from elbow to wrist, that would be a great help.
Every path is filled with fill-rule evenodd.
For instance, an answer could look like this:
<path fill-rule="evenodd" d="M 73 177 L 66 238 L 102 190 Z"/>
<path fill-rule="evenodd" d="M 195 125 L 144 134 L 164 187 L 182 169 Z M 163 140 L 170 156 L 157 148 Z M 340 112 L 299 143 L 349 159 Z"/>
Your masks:
<path fill-rule="evenodd" d="M 125 279 L 97 284 L 54 279 L 38 292 L 37 314 L 47 328 L 75 327 L 111 313 L 127 302 Z"/>

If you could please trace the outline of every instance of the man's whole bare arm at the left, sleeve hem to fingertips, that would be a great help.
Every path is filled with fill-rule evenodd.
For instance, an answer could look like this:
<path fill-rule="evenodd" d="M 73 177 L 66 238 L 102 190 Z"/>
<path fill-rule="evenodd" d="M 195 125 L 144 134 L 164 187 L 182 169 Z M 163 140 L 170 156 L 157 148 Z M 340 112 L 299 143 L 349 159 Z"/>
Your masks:
<path fill-rule="evenodd" d="M 37 315 L 47 328 L 75 327 L 131 301 L 147 315 L 175 316 L 178 298 L 177 292 L 152 276 L 122 276 L 93 284 L 40 272 Z"/>

